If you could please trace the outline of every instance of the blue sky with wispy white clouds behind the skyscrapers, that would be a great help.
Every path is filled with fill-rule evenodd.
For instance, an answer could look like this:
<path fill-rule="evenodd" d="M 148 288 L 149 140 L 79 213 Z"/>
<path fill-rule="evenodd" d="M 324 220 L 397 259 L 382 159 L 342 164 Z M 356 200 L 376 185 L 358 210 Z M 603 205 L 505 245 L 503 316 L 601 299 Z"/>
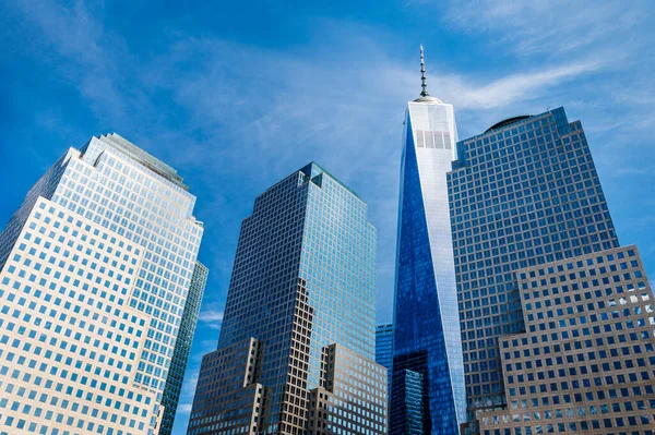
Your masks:
<path fill-rule="evenodd" d="M 183 3 L 183 4 L 182 4 Z M 392 316 L 405 102 L 455 107 L 461 138 L 564 106 L 580 119 L 622 244 L 655 277 L 655 3 L 648 1 L 0 0 L 0 221 L 69 146 L 117 132 L 198 196 L 211 270 L 176 435 L 218 337 L 241 219 L 315 160 L 378 227 L 378 319 Z"/>

